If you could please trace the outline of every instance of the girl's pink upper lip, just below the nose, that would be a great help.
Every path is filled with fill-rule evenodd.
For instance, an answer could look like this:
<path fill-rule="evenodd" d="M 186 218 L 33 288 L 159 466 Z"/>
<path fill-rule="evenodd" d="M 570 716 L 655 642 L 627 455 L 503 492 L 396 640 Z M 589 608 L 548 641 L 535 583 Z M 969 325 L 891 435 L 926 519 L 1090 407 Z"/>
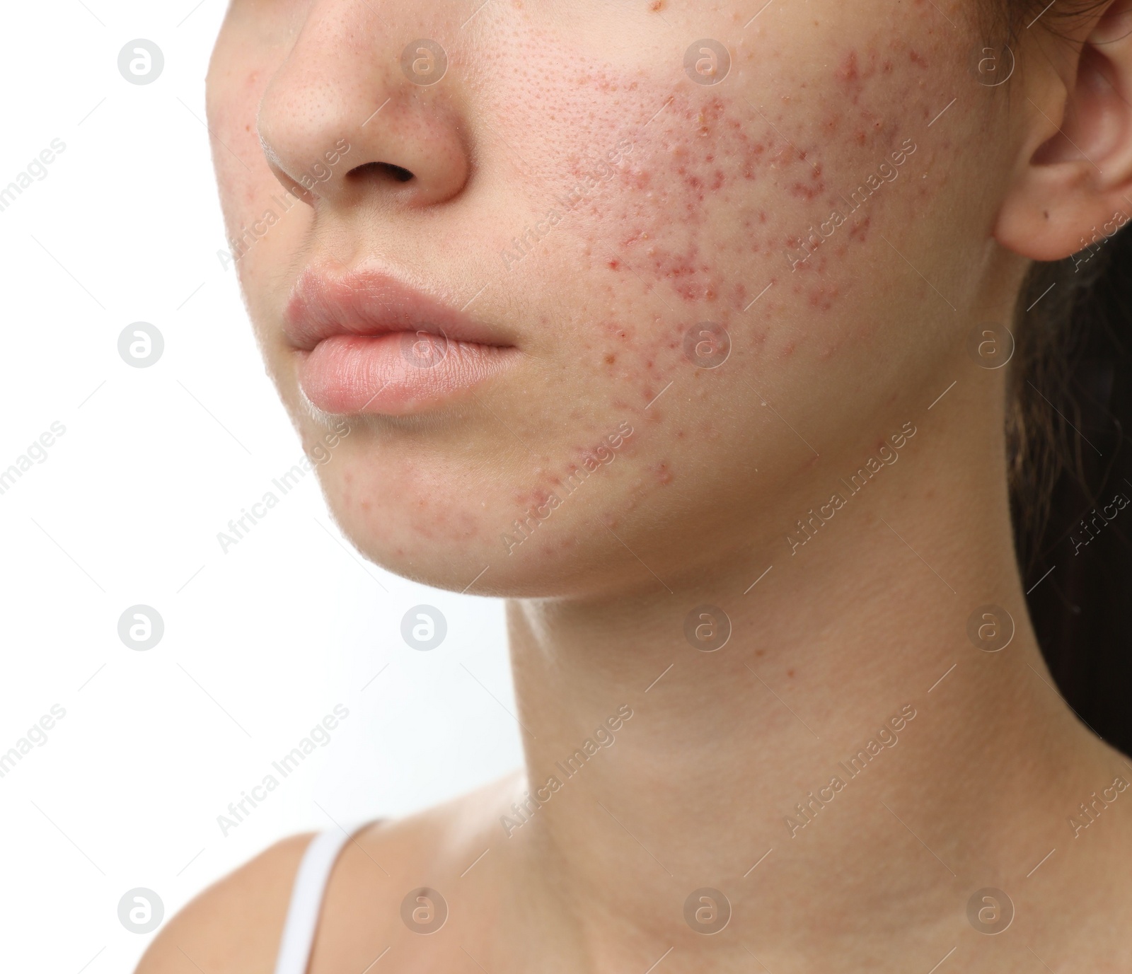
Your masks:
<path fill-rule="evenodd" d="M 406 284 L 379 267 L 308 267 L 283 312 L 283 331 L 295 348 L 310 351 L 333 335 L 428 331 L 451 342 L 509 347 L 500 329 Z"/>

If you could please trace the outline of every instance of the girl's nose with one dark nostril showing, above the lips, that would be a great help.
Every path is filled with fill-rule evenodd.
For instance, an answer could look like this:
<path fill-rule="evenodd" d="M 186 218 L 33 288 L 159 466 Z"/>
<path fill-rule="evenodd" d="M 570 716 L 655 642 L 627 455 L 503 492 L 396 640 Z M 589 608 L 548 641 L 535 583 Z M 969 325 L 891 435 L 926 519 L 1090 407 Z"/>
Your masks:
<path fill-rule="evenodd" d="M 419 40 L 411 24 L 393 23 L 392 8 L 402 5 L 379 6 L 388 16 L 354 0 L 311 3 L 259 104 L 267 164 L 316 209 L 432 206 L 468 182 L 466 129 L 447 51 Z"/>

